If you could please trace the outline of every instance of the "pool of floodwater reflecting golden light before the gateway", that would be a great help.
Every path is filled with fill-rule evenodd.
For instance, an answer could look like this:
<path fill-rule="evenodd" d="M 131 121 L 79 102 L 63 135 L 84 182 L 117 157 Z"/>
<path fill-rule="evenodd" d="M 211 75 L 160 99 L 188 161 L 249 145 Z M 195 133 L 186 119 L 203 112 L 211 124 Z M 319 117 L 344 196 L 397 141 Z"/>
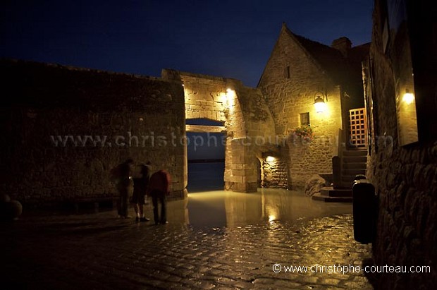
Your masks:
<path fill-rule="evenodd" d="M 257 193 L 189 193 L 186 200 L 171 204 L 169 220 L 176 219 L 191 226 L 209 227 L 293 222 L 352 213 L 351 203 L 324 203 L 312 200 L 300 191 L 266 188 L 259 188 Z"/>

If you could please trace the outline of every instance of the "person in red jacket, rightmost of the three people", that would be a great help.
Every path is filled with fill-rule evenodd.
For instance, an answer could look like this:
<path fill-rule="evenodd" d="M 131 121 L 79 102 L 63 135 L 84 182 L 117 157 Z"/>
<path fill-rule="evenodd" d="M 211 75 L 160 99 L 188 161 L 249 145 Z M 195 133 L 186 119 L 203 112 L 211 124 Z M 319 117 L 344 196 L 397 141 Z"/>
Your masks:
<path fill-rule="evenodd" d="M 170 194 L 171 177 L 166 170 L 156 171 L 150 176 L 147 195 L 152 197 L 153 216 L 155 224 L 167 224 L 167 200 Z M 158 203 L 161 203 L 161 217 L 159 217 Z"/>

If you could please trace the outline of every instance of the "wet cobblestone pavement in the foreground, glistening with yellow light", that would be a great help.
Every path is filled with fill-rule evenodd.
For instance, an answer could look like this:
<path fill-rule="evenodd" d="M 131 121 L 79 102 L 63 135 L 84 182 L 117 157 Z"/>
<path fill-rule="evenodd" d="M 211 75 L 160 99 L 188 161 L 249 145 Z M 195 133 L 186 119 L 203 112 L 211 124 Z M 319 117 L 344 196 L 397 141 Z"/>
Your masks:
<path fill-rule="evenodd" d="M 2 223 L 2 289 L 372 289 L 362 272 L 285 272 L 362 265 L 369 246 L 354 241 L 350 214 L 217 227 L 170 221 L 136 224 L 109 210 Z"/>

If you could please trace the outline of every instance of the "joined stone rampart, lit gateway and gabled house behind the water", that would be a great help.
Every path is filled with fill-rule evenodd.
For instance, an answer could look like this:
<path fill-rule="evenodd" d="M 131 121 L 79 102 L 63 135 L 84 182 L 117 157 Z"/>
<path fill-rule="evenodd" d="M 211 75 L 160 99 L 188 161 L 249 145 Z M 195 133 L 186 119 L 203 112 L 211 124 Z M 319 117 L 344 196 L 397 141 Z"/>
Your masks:
<path fill-rule="evenodd" d="M 347 147 L 348 110 L 364 107 L 367 49 L 346 37 L 328 47 L 284 24 L 257 88 L 171 69 L 152 78 L 2 60 L 0 189 L 23 203 L 111 200 L 109 170 L 133 157 L 168 169 L 171 197 L 184 198 L 186 132 L 226 134 L 228 191 L 303 188 L 314 174 L 332 175 L 332 158 Z M 293 135 L 301 125 L 314 131 L 310 143 Z"/>

